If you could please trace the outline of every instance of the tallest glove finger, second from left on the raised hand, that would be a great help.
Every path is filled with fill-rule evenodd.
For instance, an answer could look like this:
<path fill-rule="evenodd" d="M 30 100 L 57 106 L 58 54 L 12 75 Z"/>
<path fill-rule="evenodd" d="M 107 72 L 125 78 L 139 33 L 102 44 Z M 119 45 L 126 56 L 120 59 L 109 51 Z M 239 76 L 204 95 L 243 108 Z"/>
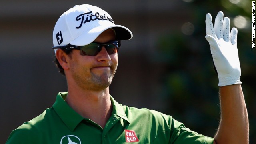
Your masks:
<path fill-rule="evenodd" d="M 223 24 L 223 12 L 218 12 L 215 22 L 214 22 L 214 31 L 218 39 L 223 38 L 223 32 L 222 32 L 222 24 Z"/>

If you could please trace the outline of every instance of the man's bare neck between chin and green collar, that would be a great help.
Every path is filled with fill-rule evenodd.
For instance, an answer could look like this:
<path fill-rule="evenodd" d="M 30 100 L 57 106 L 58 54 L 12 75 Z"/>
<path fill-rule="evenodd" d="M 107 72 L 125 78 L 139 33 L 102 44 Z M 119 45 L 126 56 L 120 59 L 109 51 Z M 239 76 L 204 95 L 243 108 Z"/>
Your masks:
<path fill-rule="evenodd" d="M 101 91 L 69 88 L 66 102 L 78 114 L 96 122 L 102 128 L 111 116 L 112 105 L 108 87 Z"/>

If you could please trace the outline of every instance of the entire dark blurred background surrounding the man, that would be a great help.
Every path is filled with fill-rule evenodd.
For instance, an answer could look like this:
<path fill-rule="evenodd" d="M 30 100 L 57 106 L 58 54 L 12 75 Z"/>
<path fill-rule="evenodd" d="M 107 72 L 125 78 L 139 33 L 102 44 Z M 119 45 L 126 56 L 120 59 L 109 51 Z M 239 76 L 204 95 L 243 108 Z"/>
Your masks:
<path fill-rule="evenodd" d="M 187 128 L 214 136 L 220 116 L 218 77 L 205 37 L 205 16 L 221 10 L 238 28 L 242 88 L 256 143 L 255 71 L 250 0 L 25 0 L 0 2 L 0 143 L 52 106 L 66 80 L 53 64 L 52 30 L 76 4 L 92 4 L 127 26 L 110 94 L 120 103 L 173 116 Z M 242 132 L 242 131 L 241 131 Z"/>

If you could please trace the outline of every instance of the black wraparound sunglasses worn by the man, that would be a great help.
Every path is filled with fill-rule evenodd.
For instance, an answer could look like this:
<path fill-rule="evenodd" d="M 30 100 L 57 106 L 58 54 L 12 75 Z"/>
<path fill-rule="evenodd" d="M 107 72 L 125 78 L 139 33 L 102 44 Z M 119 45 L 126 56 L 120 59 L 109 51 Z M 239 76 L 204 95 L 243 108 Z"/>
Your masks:
<path fill-rule="evenodd" d="M 80 50 L 80 55 L 82 56 L 96 56 L 102 49 L 102 46 L 106 48 L 108 54 L 114 54 L 118 52 L 121 42 L 120 41 L 113 41 L 113 42 L 106 42 L 106 43 L 98 43 L 92 42 L 85 46 L 74 46 L 74 45 L 66 45 L 66 46 L 55 46 L 52 49 L 61 48 L 65 50 Z"/>

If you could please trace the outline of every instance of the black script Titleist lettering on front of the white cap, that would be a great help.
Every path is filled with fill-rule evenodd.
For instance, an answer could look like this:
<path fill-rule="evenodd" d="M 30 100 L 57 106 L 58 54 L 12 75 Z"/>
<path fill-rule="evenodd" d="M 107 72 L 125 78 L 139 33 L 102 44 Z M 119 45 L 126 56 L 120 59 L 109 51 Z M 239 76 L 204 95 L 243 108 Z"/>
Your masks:
<path fill-rule="evenodd" d="M 95 15 L 94 15 L 94 14 L 91 14 L 91 13 L 92 13 L 92 11 L 86 12 L 86 13 L 80 14 L 79 16 L 76 17 L 76 21 L 81 22 L 80 26 L 76 27 L 77 29 L 81 28 L 82 25 L 85 24 L 86 22 L 94 21 L 94 20 L 97 20 L 97 19 L 98 20 L 108 20 L 108 21 L 114 23 L 114 20 L 112 20 L 112 18 L 106 16 L 105 14 L 100 15 L 100 13 L 96 12 Z M 86 14 L 88 14 L 88 15 L 86 16 L 86 18 L 84 18 Z"/>

